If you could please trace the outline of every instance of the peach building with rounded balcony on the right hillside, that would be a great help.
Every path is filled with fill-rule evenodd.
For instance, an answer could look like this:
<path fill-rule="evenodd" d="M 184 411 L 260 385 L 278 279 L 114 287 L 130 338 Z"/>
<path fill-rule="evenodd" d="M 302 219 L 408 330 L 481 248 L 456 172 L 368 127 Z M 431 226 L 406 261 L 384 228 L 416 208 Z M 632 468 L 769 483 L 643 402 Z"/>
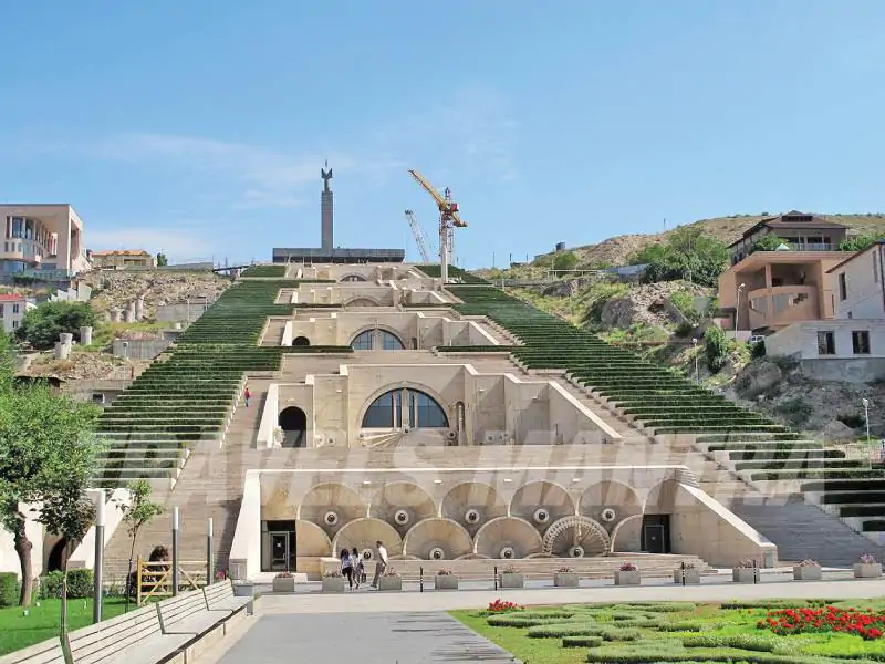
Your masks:
<path fill-rule="evenodd" d="M 833 318 L 827 270 L 842 251 L 754 251 L 719 276 L 719 304 L 731 330 L 756 333 Z"/>

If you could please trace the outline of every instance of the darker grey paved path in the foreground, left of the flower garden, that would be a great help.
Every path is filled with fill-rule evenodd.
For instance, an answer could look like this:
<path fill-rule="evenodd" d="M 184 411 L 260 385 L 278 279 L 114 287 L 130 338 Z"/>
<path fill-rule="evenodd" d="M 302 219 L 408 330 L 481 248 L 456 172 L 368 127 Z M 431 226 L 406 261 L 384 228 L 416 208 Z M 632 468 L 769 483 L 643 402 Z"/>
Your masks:
<path fill-rule="evenodd" d="M 264 615 L 219 664 L 512 663 L 513 656 L 446 613 Z"/>

